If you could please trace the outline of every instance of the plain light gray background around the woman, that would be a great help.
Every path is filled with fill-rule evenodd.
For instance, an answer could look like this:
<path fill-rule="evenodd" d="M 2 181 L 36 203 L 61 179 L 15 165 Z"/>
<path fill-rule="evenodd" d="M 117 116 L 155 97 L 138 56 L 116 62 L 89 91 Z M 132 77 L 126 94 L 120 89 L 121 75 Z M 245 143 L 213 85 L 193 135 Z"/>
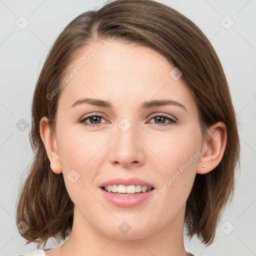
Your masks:
<path fill-rule="evenodd" d="M 159 2 L 190 18 L 210 39 L 225 71 L 240 125 L 241 168 L 236 175 L 233 201 L 224 211 L 212 245 L 204 247 L 196 238 L 190 242 L 185 238 L 185 248 L 196 256 L 256 255 L 256 1 Z M 31 160 L 30 106 L 39 71 L 64 26 L 78 14 L 102 3 L 102 0 L 0 0 L 0 255 L 36 249 L 35 244 L 24 247 L 25 240 L 15 229 L 14 206 L 22 173 Z M 24 29 L 15 24 L 21 15 L 29 21 Z M 224 18 L 226 15 L 234 21 L 229 29 L 224 27 L 231 24 L 230 19 Z M 23 131 L 16 126 L 21 118 L 28 123 Z M 232 226 L 234 229 L 226 234 Z M 47 245 L 56 246 L 54 242 Z"/>

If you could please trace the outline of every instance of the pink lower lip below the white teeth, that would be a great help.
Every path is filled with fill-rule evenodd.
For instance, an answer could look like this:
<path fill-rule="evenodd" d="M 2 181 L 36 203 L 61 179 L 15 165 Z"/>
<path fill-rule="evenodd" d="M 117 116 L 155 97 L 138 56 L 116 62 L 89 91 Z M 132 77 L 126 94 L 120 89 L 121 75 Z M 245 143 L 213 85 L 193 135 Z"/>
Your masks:
<path fill-rule="evenodd" d="M 144 193 L 137 193 L 132 195 L 119 195 L 111 192 L 107 192 L 102 188 L 98 188 L 100 193 L 112 204 L 119 207 L 134 207 L 148 199 L 153 194 L 154 188 Z"/>

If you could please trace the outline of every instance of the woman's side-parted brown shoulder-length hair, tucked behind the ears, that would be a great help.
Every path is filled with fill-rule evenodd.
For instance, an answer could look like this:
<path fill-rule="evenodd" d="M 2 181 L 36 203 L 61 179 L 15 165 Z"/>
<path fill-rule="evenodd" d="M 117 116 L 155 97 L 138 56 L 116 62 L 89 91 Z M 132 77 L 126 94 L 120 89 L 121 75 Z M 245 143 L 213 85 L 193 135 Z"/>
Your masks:
<path fill-rule="evenodd" d="M 27 242 L 44 243 L 50 237 L 65 238 L 71 228 L 73 207 L 62 173 L 50 168 L 39 133 L 39 122 L 48 117 L 54 129 L 57 93 L 51 93 L 64 77 L 75 56 L 95 40 L 116 39 L 150 47 L 182 71 L 182 78 L 196 102 L 202 134 L 223 121 L 227 142 L 220 163 L 206 174 L 196 174 L 185 209 L 187 235 L 211 244 L 220 214 L 232 199 L 240 145 L 227 81 L 220 61 L 201 30 L 178 11 L 152 0 L 115 0 L 98 10 L 75 17 L 59 34 L 38 77 L 32 102 L 30 143 L 35 154 L 22 185 L 16 223 L 24 221 Z M 37 248 L 39 247 L 37 246 Z"/>

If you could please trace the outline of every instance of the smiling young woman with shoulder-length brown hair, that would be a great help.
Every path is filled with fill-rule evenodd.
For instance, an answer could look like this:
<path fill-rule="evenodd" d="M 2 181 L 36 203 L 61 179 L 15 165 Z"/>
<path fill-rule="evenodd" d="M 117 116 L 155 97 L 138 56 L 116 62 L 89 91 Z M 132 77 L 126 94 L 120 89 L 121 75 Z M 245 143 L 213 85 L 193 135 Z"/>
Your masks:
<path fill-rule="evenodd" d="M 17 224 L 27 255 L 193 255 L 231 199 L 239 140 L 225 75 L 188 18 L 116 0 L 74 18 L 40 72 Z M 22 226 L 22 225 L 21 225 Z"/>

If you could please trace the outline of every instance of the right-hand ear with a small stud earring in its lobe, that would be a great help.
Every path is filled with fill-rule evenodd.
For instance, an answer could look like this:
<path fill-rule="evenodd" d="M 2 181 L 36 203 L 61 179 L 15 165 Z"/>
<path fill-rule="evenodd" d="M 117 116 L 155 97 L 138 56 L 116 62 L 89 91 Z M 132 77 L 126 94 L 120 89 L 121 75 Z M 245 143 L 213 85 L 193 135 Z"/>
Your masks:
<path fill-rule="evenodd" d="M 225 150 L 226 137 L 226 125 L 223 122 L 217 122 L 208 128 L 208 136 L 202 143 L 196 173 L 207 173 L 219 164 Z"/>

